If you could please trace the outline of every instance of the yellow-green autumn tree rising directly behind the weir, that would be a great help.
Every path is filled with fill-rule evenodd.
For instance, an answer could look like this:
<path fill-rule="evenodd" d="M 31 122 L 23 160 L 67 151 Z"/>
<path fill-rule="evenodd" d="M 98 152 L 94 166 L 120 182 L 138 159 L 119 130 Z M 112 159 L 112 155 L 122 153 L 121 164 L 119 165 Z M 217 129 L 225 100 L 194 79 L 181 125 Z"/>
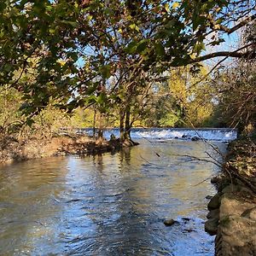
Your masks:
<path fill-rule="evenodd" d="M 205 79 L 207 68 L 198 73 L 188 67 L 172 67 L 168 79 L 154 85 L 151 119 L 156 126 L 203 126 L 213 112 L 216 89 Z"/>

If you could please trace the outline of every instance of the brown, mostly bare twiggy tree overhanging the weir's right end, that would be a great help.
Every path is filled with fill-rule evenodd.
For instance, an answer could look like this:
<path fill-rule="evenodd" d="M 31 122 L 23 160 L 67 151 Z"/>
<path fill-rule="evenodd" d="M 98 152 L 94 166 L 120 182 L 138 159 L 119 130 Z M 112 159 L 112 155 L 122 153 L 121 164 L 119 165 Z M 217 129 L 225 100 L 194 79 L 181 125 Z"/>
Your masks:
<path fill-rule="evenodd" d="M 218 86 L 216 119 L 222 125 L 253 134 L 256 120 L 255 63 L 239 61 L 220 70 L 215 77 Z"/>

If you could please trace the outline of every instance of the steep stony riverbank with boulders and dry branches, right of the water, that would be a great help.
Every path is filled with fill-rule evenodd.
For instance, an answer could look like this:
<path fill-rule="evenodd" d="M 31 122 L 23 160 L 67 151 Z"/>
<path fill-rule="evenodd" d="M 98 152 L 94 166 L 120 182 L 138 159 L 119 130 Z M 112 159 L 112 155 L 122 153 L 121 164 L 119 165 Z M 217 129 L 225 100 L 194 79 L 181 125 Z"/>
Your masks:
<path fill-rule="evenodd" d="M 255 139 L 230 143 L 223 172 L 212 178 L 218 193 L 209 201 L 205 224 L 215 238 L 215 255 L 256 255 Z"/>

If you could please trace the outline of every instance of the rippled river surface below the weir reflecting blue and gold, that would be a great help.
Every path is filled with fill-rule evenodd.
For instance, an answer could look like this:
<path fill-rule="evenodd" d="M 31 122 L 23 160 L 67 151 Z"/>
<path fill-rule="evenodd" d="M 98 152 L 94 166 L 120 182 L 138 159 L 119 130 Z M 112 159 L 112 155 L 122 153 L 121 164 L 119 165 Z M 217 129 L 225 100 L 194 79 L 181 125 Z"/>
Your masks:
<path fill-rule="evenodd" d="M 142 141 L 118 154 L 5 166 L 0 254 L 213 255 L 203 222 L 214 189 L 201 181 L 218 170 L 186 156 L 206 150 L 214 153 L 202 142 Z"/>

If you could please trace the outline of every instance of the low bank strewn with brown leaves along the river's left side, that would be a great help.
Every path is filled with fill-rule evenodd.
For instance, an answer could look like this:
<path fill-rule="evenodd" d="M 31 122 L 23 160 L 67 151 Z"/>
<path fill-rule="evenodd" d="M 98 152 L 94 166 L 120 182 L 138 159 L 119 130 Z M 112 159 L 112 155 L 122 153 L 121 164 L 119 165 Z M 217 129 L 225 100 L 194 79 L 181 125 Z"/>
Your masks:
<path fill-rule="evenodd" d="M 102 154 L 129 146 L 131 143 L 120 143 L 119 139 L 96 141 L 91 137 L 79 135 L 34 138 L 27 141 L 4 137 L 0 142 L 0 164 L 67 154 Z"/>

